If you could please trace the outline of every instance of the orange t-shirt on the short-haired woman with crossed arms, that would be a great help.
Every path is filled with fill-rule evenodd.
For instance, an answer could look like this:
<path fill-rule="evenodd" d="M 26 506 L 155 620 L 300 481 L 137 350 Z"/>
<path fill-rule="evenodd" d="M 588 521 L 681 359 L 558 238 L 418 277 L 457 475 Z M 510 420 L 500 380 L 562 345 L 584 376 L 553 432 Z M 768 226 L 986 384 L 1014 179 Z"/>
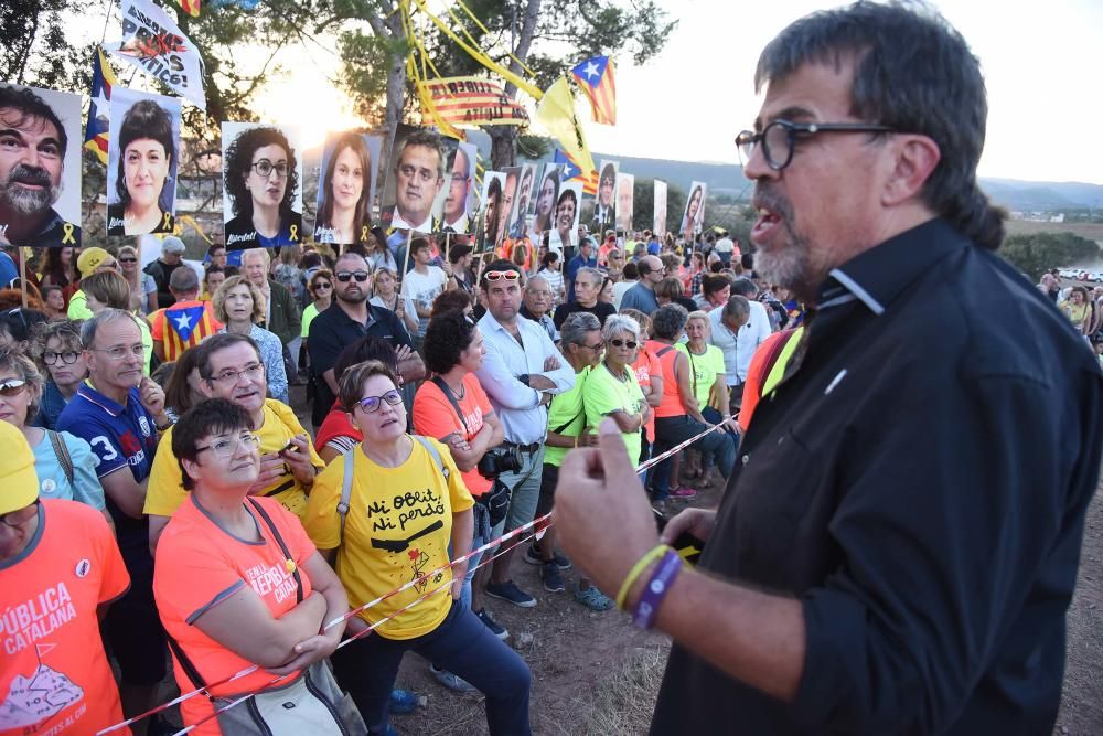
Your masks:
<path fill-rule="evenodd" d="M 264 508 L 279 530 L 299 568 L 302 598 L 306 600 L 312 588 L 302 564 L 314 554 L 314 544 L 298 516 L 280 505 L 279 501 L 256 497 L 250 500 Z M 224 680 L 253 663 L 203 633 L 195 626 L 196 619 L 246 585 L 260 597 L 274 618 L 283 616 L 298 605 L 295 576 L 288 570 L 287 559 L 271 530 L 251 505 L 247 503 L 246 509 L 260 530 L 264 542 L 259 544 L 231 536 L 204 513 L 195 497 L 189 494 L 172 514 L 157 545 L 153 596 L 161 623 L 207 683 Z M 242 621 L 242 626 L 248 627 L 249 622 Z M 195 685 L 175 657 L 172 664 L 180 690 L 194 690 Z M 240 680 L 212 687 L 212 692 L 221 696 L 261 690 L 271 680 L 272 674 L 260 669 Z M 211 701 L 206 697 L 191 697 L 180 705 L 185 726 L 211 712 Z M 217 719 L 212 718 L 192 733 L 217 735 L 221 730 Z"/>

